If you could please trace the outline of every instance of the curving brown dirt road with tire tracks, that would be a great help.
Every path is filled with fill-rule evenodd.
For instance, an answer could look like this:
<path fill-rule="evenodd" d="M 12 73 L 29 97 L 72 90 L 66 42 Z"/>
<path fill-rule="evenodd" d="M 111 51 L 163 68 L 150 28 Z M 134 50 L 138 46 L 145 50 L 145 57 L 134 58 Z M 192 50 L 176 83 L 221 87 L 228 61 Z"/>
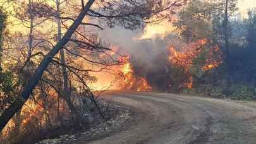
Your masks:
<path fill-rule="evenodd" d="M 90 143 L 256 143 L 256 107 L 165 93 L 116 93 L 135 121 Z"/>

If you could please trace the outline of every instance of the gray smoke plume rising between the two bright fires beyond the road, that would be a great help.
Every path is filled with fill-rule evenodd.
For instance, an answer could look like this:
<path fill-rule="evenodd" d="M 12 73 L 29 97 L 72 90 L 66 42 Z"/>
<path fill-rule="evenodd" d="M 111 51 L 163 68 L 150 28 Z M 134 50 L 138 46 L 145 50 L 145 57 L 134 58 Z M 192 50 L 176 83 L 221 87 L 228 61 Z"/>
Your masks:
<path fill-rule="evenodd" d="M 168 60 L 169 45 L 178 48 L 183 43 L 174 33 L 165 37 L 159 35 L 154 39 L 138 40 L 142 31 L 129 31 L 112 28 L 102 31 L 101 37 L 106 37 L 111 44 L 118 45 L 128 52 L 135 75 L 145 78 L 154 90 L 167 90 L 171 85 L 171 65 Z"/>

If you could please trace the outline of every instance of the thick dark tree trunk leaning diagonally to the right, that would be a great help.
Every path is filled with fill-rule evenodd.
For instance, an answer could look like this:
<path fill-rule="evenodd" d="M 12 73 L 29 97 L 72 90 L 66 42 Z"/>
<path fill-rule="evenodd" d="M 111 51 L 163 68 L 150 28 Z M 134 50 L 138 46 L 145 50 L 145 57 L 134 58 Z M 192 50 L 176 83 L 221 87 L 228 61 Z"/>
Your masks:
<path fill-rule="evenodd" d="M 25 102 L 30 97 L 30 94 L 34 90 L 35 86 L 39 82 L 41 76 L 44 71 L 47 69 L 49 63 L 51 63 L 52 58 L 58 54 L 58 52 L 63 49 L 64 45 L 66 45 L 72 34 L 75 32 L 76 28 L 82 23 L 83 18 L 87 15 L 87 12 L 90 10 L 90 7 L 94 3 L 95 0 L 89 0 L 85 7 L 82 9 L 81 13 L 77 16 L 76 20 L 73 24 L 68 28 L 68 31 L 65 33 L 64 37 L 48 52 L 48 54 L 44 57 L 44 59 L 40 62 L 39 66 L 35 70 L 33 76 L 31 76 L 30 80 L 23 88 L 21 92 L 20 99 L 18 102 L 13 102 L 6 109 L 3 110 L 0 114 L 0 131 L 3 130 L 4 126 L 8 123 L 8 121 L 15 116 L 15 113 L 18 112 L 21 107 L 25 104 Z"/>

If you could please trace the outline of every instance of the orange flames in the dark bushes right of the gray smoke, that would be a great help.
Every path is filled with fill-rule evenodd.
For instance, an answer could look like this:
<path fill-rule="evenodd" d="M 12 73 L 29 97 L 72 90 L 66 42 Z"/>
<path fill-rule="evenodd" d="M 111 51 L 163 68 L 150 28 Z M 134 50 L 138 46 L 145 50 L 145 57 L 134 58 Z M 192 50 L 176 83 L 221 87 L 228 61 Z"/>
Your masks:
<path fill-rule="evenodd" d="M 208 45 L 207 39 L 197 40 L 186 45 L 181 51 L 177 51 L 173 46 L 169 47 L 169 61 L 173 66 L 184 69 L 187 80 L 182 83 L 187 88 L 193 88 L 193 68 L 199 66 L 202 71 L 209 71 L 217 68 L 222 63 L 222 54 L 218 45 Z"/>

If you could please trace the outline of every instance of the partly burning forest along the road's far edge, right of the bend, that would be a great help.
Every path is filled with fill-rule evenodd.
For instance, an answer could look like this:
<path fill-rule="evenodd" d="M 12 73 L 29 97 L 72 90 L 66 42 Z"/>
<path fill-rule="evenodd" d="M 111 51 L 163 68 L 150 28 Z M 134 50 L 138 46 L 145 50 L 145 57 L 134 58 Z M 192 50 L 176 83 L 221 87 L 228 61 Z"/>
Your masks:
<path fill-rule="evenodd" d="M 164 47 L 161 52 L 155 56 L 154 47 L 145 47 L 146 60 L 131 59 L 135 75 L 154 90 L 255 100 L 256 11 L 242 15 L 237 3 L 188 1 L 173 32 L 145 40 Z"/>

